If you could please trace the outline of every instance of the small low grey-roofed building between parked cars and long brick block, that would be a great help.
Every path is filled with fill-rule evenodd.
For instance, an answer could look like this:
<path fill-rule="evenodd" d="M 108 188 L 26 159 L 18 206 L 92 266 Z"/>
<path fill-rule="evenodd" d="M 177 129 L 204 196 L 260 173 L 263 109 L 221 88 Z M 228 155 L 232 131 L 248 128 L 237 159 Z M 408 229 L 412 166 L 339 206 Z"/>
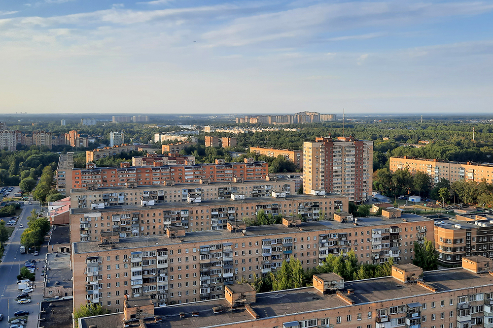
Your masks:
<path fill-rule="evenodd" d="M 44 298 L 70 297 L 73 295 L 70 253 L 46 254 Z"/>

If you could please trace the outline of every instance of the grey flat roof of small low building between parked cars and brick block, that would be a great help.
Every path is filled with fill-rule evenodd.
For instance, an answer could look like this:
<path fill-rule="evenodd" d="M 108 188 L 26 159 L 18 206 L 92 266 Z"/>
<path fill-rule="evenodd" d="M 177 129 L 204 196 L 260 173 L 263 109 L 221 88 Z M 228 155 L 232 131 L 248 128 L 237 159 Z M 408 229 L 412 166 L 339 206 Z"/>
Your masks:
<path fill-rule="evenodd" d="M 45 287 L 72 287 L 72 270 L 70 269 L 70 253 L 48 253 L 48 268 Z"/>

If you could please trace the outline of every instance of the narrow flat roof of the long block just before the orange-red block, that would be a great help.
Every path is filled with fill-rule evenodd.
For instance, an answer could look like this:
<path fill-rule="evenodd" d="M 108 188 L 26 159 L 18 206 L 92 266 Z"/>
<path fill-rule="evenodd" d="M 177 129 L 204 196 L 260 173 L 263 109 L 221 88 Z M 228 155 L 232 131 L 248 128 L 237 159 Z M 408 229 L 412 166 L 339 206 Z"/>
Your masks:
<path fill-rule="evenodd" d="M 231 186 L 242 186 L 242 185 L 252 185 L 252 184 L 272 184 L 276 182 L 282 182 L 282 181 L 294 181 L 295 179 L 275 179 L 275 180 L 247 180 L 245 182 L 233 182 L 233 181 L 222 181 L 222 182 L 208 182 L 208 183 L 170 183 L 170 184 L 157 184 L 157 185 L 136 185 L 132 188 L 129 187 L 98 187 L 90 191 L 111 191 L 113 192 L 118 192 L 116 190 L 126 190 L 130 191 L 132 189 L 134 190 L 162 190 L 163 188 L 168 188 L 168 187 L 183 187 L 183 189 L 195 189 L 195 188 L 209 188 L 209 187 L 215 187 L 219 185 L 231 185 Z M 77 193 L 86 193 L 88 190 L 87 189 L 82 189 L 82 188 L 75 188 L 75 189 L 70 189 L 70 195 L 76 195 Z"/>

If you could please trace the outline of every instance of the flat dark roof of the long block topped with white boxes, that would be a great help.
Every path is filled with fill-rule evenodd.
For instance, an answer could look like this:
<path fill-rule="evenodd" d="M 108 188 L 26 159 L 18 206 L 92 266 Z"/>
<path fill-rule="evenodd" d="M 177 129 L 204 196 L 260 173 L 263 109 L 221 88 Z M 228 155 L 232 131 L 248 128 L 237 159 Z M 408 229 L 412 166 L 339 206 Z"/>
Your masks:
<path fill-rule="evenodd" d="M 187 203 L 187 202 L 176 202 L 176 203 L 158 203 L 156 205 L 151 206 L 141 206 L 141 205 L 121 205 L 121 206 L 109 206 L 104 209 L 70 209 L 70 214 L 84 214 L 84 213 L 94 213 L 94 212 L 114 212 L 115 210 L 141 210 L 141 209 L 176 209 L 176 207 L 184 208 L 184 207 L 196 207 L 198 205 L 204 206 L 220 206 L 220 207 L 228 207 L 228 206 L 238 206 L 240 204 L 256 204 L 260 202 L 271 202 L 276 203 L 282 200 L 292 200 L 293 202 L 300 201 L 322 201 L 324 198 L 339 198 L 346 197 L 341 194 L 336 193 L 327 193 L 323 196 L 315 196 L 312 194 L 294 194 L 287 195 L 286 197 L 274 198 L 274 197 L 246 197 L 244 200 L 232 200 L 231 198 L 226 199 L 213 199 L 209 201 L 202 201 L 200 203 Z M 358 219 L 359 222 L 359 219 Z"/>

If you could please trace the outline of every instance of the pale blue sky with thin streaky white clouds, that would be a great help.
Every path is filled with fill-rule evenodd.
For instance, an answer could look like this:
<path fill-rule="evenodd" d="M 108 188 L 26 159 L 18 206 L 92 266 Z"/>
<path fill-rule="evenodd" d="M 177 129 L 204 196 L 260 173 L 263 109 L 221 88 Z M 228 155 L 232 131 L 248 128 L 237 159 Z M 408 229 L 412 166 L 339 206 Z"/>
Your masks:
<path fill-rule="evenodd" d="M 3 113 L 491 113 L 493 1 L 0 1 Z"/>

